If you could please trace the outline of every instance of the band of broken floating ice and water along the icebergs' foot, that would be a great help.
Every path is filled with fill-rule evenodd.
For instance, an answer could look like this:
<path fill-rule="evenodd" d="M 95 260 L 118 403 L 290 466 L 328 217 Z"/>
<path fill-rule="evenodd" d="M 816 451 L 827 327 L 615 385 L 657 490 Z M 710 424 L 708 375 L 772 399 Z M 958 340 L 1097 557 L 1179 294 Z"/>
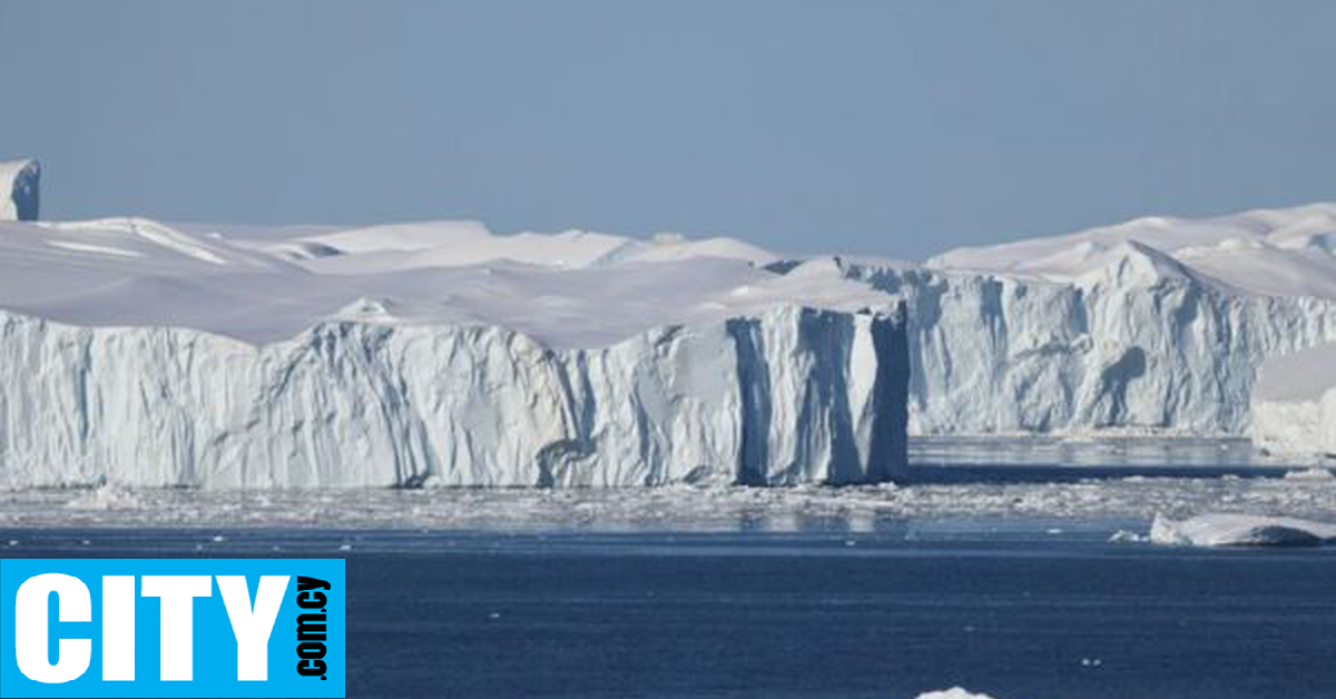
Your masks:
<path fill-rule="evenodd" d="M 0 527 L 871 532 L 906 521 L 1336 519 L 1336 480 L 1281 478 L 1241 440 L 914 440 L 908 482 L 553 491 L 0 491 Z M 1313 472 L 1320 473 L 1320 472 Z M 1242 476 L 1242 477 L 1241 477 Z M 3 543 L 0 543 L 3 544 Z"/>

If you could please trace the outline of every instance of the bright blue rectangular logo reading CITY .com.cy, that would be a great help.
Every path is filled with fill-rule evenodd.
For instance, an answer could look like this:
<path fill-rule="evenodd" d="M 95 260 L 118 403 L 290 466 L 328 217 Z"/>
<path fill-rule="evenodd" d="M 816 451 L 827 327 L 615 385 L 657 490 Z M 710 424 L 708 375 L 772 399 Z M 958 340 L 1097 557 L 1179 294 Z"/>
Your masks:
<path fill-rule="evenodd" d="M 343 561 L 0 560 L 0 698 L 343 696 Z"/>

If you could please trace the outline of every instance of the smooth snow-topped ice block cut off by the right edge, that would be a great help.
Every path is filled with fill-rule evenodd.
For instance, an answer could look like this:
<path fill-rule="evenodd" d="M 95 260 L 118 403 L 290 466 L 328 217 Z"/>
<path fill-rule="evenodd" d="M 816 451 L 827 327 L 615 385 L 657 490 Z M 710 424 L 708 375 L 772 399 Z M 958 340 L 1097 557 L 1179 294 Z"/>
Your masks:
<path fill-rule="evenodd" d="M 1252 396 L 1253 442 L 1291 457 L 1336 457 L 1336 343 L 1261 366 Z"/>

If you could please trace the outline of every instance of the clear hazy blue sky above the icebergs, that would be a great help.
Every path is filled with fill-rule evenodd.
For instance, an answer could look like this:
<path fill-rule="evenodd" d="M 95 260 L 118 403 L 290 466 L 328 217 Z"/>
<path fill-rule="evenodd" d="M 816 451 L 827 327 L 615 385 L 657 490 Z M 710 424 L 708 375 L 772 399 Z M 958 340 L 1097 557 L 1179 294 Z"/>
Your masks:
<path fill-rule="evenodd" d="M 1336 3 L 0 0 L 43 215 L 918 259 L 1336 199 Z"/>

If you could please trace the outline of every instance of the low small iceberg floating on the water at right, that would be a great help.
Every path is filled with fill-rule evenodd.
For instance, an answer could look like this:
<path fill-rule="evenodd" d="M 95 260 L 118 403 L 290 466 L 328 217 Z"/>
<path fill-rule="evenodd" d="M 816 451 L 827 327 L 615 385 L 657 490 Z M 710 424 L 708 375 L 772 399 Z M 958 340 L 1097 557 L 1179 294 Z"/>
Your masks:
<path fill-rule="evenodd" d="M 1336 541 L 1336 524 L 1256 515 L 1200 515 L 1172 520 L 1156 515 L 1150 541 L 1190 547 L 1317 547 Z"/>

